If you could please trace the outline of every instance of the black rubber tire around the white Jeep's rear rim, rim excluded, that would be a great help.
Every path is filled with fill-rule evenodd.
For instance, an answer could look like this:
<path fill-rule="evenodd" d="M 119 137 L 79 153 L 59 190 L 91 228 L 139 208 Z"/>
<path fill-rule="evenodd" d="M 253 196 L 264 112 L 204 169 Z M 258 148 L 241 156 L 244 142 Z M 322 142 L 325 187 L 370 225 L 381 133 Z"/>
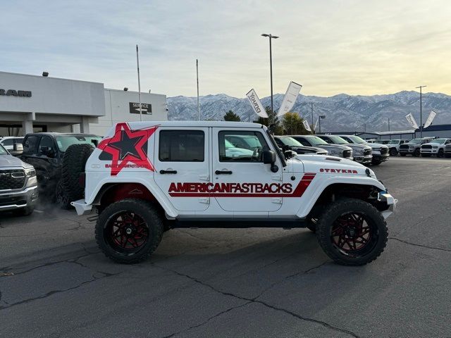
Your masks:
<path fill-rule="evenodd" d="M 147 225 L 147 241 L 135 250 L 120 250 L 111 245 L 109 223 L 118 213 L 130 212 L 138 215 Z M 163 220 L 159 210 L 150 202 L 142 199 L 123 199 L 107 206 L 101 212 L 95 227 L 96 242 L 106 257 L 117 263 L 132 264 L 149 258 L 161 242 Z"/>

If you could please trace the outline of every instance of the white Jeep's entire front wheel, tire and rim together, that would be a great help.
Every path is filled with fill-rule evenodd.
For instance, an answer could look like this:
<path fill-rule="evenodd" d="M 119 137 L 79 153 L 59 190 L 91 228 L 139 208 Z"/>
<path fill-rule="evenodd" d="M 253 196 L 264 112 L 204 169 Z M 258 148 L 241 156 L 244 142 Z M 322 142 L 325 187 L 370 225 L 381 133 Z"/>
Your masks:
<path fill-rule="evenodd" d="M 339 199 L 330 204 L 316 225 L 324 252 L 342 265 L 364 265 L 378 258 L 388 239 L 381 213 L 359 199 Z"/>

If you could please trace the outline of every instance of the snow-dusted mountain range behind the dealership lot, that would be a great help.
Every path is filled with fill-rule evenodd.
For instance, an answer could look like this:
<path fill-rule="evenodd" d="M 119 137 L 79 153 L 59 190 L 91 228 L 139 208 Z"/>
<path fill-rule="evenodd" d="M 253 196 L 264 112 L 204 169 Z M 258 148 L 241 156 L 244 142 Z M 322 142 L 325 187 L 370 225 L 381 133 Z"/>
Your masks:
<path fill-rule="evenodd" d="M 274 95 L 274 110 L 278 111 L 283 94 Z M 437 114 L 434 125 L 451 123 L 451 96 L 440 93 L 423 94 L 423 123 L 433 109 Z M 261 99 L 264 106 L 271 104 L 270 97 Z M 197 120 L 197 98 L 187 96 L 168 97 L 169 120 Z M 314 120 L 318 115 L 326 115 L 321 120 L 321 131 L 354 131 L 410 129 L 405 115 L 412 113 L 419 124 L 419 93 L 399 92 L 373 96 L 338 94 L 330 97 L 299 95 L 292 111 L 311 122 L 311 103 L 314 104 Z M 234 111 L 243 121 L 257 120 L 257 115 L 247 99 L 238 99 L 226 94 L 200 97 L 202 120 L 223 120 L 226 111 Z"/>

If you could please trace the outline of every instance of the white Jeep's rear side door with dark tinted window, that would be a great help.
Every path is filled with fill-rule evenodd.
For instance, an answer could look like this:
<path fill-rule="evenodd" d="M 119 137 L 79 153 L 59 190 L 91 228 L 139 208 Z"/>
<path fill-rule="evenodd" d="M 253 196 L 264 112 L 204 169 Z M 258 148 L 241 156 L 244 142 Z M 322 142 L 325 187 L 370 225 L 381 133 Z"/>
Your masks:
<path fill-rule="evenodd" d="M 209 128 L 160 127 L 156 130 L 154 180 L 179 211 L 204 211 L 209 197 L 199 194 L 209 175 Z"/>

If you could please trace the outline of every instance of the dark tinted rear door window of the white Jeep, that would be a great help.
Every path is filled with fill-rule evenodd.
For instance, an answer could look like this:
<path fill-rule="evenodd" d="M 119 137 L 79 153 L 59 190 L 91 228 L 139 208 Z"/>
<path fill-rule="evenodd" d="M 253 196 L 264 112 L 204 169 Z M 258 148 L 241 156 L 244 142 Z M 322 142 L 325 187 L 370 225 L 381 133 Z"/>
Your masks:
<path fill-rule="evenodd" d="M 203 162 L 205 134 L 201 130 L 161 130 L 159 159 L 162 162 Z"/>

